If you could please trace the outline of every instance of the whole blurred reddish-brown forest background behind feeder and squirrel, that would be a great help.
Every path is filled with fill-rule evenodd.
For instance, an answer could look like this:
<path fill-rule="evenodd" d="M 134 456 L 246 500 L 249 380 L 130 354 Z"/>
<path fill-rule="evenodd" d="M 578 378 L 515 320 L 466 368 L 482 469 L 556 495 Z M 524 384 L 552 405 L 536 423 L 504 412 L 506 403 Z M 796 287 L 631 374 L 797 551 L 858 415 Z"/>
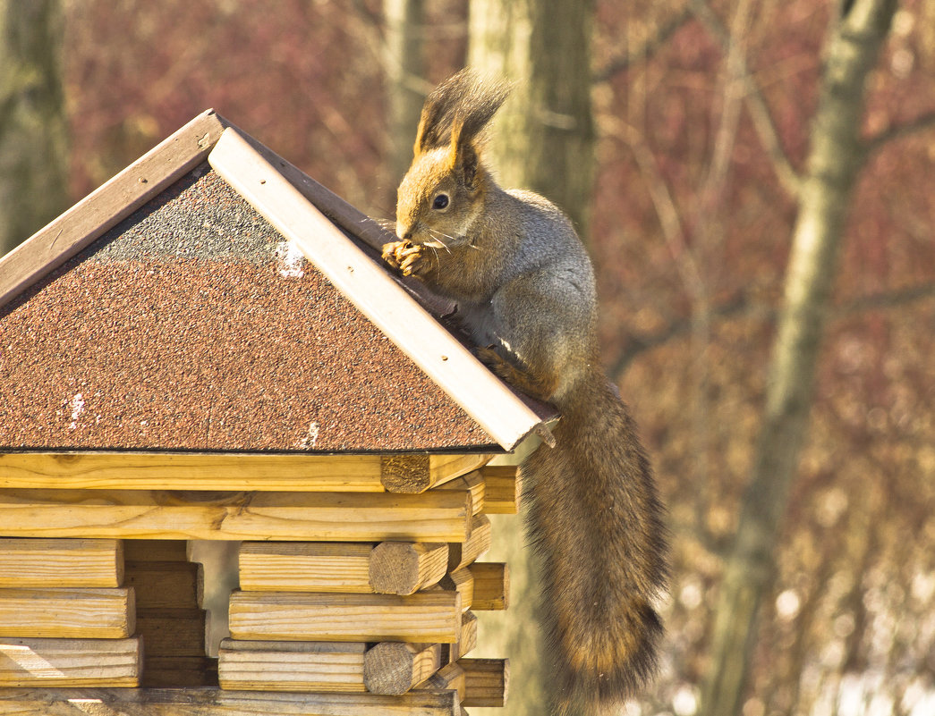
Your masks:
<path fill-rule="evenodd" d="M 669 504 L 626 713 L 935 713 L 935 0 L 0 0 L 0 253 L 208 106 L 392 218 L 465 63 L 516 82 L 491 161 L 588 243 Z M 482 630 L 539 714 L 511 534 Z"/>

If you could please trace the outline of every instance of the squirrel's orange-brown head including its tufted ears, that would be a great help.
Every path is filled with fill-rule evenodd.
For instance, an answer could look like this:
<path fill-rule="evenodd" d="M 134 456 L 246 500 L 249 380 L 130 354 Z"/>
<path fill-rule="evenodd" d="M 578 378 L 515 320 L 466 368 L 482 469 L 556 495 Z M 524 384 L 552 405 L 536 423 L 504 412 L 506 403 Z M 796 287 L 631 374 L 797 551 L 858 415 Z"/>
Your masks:
<path fill-rule="evenodd" d="M 400 239 L 439 248 L 469 241 L 492 181 L 481 164 L 482 132 L 507 92 L 461 70 L 428 95 L 412 165 L 397 191 Z"/>

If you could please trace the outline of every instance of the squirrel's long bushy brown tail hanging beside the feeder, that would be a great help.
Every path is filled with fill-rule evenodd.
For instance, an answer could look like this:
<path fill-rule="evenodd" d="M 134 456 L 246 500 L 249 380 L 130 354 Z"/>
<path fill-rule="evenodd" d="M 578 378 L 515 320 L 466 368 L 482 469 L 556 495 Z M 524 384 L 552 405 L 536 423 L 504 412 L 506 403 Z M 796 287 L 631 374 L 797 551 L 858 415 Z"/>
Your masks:
<path fill-rule="evenodd" d="M 602 373 L 582 381 L 523 470 L 554 710 L 619 708 L 653 675 L 668 576 L 663 508 L 632 418 Z"/>

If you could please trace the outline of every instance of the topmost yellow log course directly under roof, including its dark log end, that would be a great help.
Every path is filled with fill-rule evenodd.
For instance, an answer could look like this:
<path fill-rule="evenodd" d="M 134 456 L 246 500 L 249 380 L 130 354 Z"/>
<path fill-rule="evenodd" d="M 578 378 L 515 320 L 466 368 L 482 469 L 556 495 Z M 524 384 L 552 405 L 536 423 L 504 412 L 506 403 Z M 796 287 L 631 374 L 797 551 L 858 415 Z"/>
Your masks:
<path fill-rule="evenodd" d="M 265 490 L 416 493 L 489 455 L 0 453 L 0 489 Z"/>

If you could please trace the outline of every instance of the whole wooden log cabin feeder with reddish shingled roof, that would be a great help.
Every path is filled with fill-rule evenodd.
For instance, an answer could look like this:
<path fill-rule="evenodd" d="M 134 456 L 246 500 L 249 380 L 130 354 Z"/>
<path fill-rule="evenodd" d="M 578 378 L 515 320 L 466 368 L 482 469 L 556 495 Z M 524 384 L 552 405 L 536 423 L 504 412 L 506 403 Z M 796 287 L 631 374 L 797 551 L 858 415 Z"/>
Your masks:
<path fill-rule="evenodd" d="M 0 714 L 460 716 L 548 407 L 208 111 L 0 259 Z M 189 541 L 234 541 L 206 649 Z"/>

